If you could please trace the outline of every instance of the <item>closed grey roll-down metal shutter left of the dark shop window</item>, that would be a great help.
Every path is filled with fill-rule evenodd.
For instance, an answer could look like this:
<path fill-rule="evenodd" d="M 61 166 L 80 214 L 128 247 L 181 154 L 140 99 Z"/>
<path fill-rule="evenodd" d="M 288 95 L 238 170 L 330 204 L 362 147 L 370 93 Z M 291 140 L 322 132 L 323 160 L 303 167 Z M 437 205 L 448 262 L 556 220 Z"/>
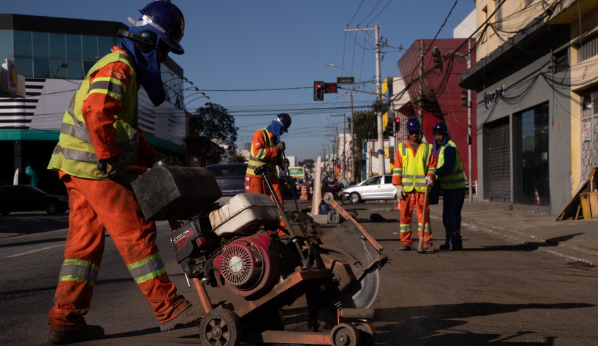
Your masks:
<path fill-rule="evenodd" d="M 510 203 L 509 123 L 490 128 L 490 194 L 493 202 Z"/>

